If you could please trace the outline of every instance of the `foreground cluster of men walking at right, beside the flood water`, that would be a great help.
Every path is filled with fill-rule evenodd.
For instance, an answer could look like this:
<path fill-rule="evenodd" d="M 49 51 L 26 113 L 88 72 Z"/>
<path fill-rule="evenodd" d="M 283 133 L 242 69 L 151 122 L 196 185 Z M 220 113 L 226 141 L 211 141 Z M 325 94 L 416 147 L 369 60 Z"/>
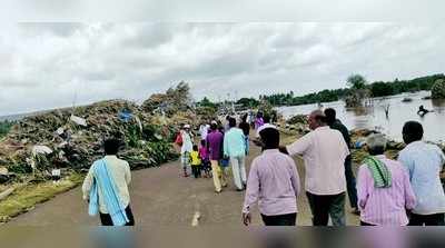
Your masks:
<path fill-rule="evenodd" d="M 251 221 L 251 206 L 258 201 L 265 225 L 294 226 L 297 197 L 303 191 L 295 162 L 289 156 L 303 156 L 305 191 L 314 226 L 345 226 L 345 199 L 348 192 L 363 226 L 443 226 L 445 194 L 441 171 L 444 152 L 424 142 L 423 127 L 408 121 L 403 128 L 407 145 L 397 160 L 385 156 L 387 140 L 382 133 L 367 137 L 369 156 L 352 170 L 348 131 L 336 119 L 334 109 L 315 110 L 308 118 L 312 131 L 287 147 L 279 147 L 274 126 L 259 131 L 264 152 L 250 168 L 243 208 L 245 225 Z"/>

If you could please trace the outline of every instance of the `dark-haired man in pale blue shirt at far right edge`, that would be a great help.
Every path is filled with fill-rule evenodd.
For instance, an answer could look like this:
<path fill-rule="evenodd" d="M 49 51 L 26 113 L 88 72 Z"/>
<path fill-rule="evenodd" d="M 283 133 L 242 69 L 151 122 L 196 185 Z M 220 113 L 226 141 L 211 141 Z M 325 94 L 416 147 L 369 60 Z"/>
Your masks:
<path fill-rule="evenodd" d="M 439 175 L 445 155 L 437 146 L 422 141 L 423 135 L 419 122 L 406 122 L 403 138 L 407 146 L 398 156 L 398 161 L 409 171 L 409 180 L 417 199 L 409 225 L 444 226 L 445 192 Z"/>

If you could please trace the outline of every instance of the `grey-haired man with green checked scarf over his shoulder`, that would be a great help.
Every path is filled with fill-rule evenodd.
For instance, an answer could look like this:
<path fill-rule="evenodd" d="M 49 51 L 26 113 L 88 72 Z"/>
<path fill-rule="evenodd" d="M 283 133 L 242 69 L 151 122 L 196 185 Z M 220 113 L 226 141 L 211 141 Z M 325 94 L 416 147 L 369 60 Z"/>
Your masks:
<path fill-rule="evenodd" d="M 406 226 L 406 210 L 416 205 L 408 171 L 384 152 L 382 133 L 367 137 L 368 157 L 357 173 L 357 197 L 362 226 Z"/>

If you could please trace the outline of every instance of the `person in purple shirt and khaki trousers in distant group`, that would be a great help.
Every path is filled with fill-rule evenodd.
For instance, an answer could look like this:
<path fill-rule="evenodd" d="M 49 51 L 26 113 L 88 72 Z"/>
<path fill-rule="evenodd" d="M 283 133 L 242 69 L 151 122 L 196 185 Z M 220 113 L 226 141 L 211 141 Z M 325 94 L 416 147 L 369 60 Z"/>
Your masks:
<path fill-rule="evenodd" d="M 211 122 L 210 125 L 210 132 L 207 135 L 207 149 L 209 152 L 210 163 L 211 163 L 211 173 L 214 176 L 214 185 L 215 191 L 221 192 L 221 186 L 225 186 L 225 179 L 221 180 L 219 178 L 219 159 L 221 159 L 221 151 L 222 151 L 222 142 L 224 136 L 218 130 L 218 126 L 216 122 Z"/>

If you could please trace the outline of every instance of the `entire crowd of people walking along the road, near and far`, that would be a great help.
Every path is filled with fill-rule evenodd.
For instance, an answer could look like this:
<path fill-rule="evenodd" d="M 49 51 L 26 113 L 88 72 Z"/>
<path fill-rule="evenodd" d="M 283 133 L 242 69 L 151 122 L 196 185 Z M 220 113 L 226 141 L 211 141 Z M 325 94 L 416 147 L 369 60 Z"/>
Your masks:
<path fill-rule="evenodd" d="M 176 139 L 181 146 L 184 176 L 189 176 L 189 167 L 196 178 L 204 171 L 206 177 L 212 177 L 217 194 L 227 186 L 226 167 L 231 165 L 236 189 L 246 190 L 241 210 L 245 225 L 250 225 L 251 209 L 258 204 L 265 225 L 295 226 L 297 198 L 303 191 L 314 226 L 327 226 L 329 219 L 334 226 L 345 226 L 346 194 L 363 226 L 444 225 L 445 194 L 439 173 L 445 156 L 437 146 L 422 140 L 421 123 L 408 121 L 403 127 L 406 148 L 397 160 L 385 156 L 384 135 L 368 136 L 369 156 L 359 166 L 356 179 L 349 132 L 336 119 L 334 109 L 313 111 L 308 117 L 312 131 L 287 147 L 280 147 L 278 128 L 259 117 L 255 128 L 263 152 L 254 159 L 247 177 L 251 125 L 247 118 L 240 118 L 239 123 L 234 117 L 227 117 L 226 125 L 202 123 L 199 146 L 194 145 L 188 125 Z M 106 156 L 91 166 L 82 186 L 83 198 L 89 201 L 89 214 L 99 214 L 102 225 L 132 226 L 130 168 L 117 158 L 118 150 L 118 140 L 105 141 Z M 304 159 L 304 187 L 293 156 Z"/>

